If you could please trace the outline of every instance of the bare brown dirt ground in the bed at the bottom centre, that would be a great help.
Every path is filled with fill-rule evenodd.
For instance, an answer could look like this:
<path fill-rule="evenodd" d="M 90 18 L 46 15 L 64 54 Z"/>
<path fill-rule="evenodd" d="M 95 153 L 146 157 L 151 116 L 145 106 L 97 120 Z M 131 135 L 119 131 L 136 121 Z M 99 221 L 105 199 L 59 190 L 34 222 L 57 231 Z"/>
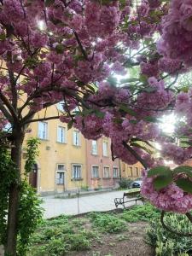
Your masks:
<path fill-rule="evenodd" d="M 90 251 L 67 253 L 67 256 L 154 256 L 154 250 L 144 241 L 147 223 L 128 224 L 129 230 L 103 235 L 92 243 Z"/>

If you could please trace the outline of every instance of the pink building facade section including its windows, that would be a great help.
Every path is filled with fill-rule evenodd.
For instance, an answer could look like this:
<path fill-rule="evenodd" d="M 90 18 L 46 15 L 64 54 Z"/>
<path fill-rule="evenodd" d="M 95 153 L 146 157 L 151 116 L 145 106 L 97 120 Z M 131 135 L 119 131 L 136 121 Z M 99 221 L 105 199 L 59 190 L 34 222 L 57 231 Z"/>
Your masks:
<path fill-rule="evenodd" d="M 112 160 L 110 140 L 102 137 L 86 141 L 87 182 L 89 189 L 115 188 L 119 184 L 119 160 Z"/>

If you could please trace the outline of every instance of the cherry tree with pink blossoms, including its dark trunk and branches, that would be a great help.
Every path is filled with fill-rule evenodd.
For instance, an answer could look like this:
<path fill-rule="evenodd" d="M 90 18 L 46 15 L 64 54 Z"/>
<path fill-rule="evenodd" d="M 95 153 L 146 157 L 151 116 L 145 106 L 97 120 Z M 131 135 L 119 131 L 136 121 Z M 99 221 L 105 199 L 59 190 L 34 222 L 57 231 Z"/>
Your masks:
<path fill-rule="evenodd" d="M 174 143 L 175 137 L 190 136 L 191 92 L 177 96 L 175 86 L 192 63 L 190 5 L 189 0 L 0 1 L 0 141 L 9 143 L 18 170 L 9 188 L 6 253 L 16 255 L 22 143 L 28 126 L 39 120 L 61 119 L 88 139 L 110 137 L 113 160 L 143 164 L 142 192 L 149 201 L 165 211 L 192 209 L 191 169 L 173 173 L 151 154 L 155 141 L 162 144 L 161 155 L 179 165 L 192 154 L 189 140 L 187 148 Z M 63 102 L 63 113 L 46 116 L 46 108 L 57 102 Z M 44 118 L 36 118 L 42 109 Z M 172 111 L 186 117 L 174 138 L 165 137 L 158 123 Z M 8 123 L 12 129 L 5 132 Z"/>

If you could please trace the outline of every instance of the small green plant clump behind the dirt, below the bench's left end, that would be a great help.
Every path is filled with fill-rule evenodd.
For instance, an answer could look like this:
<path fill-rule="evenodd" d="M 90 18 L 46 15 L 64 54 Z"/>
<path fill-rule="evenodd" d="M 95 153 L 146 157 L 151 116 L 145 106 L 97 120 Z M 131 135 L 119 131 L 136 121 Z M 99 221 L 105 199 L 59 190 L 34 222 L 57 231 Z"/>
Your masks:
<path fill-rule="evenodd" d="M 102 232 L 119 233 L 126 229 L 125 221 L 114 216 L 113 213 L 90 213 L 93 225 Z"/>

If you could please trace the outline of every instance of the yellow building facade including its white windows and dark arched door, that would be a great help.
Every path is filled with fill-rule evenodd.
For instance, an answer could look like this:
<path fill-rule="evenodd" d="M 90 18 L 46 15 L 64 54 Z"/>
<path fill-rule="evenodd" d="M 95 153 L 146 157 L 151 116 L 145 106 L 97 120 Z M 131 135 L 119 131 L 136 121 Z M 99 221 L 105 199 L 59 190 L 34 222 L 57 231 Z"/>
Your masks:
<path fill-rule="evenodd" d="M 48 108 L 46 116 L 58 115 L 60 110 L 57 106 Z M 44 118 L 44 115 L 43 110 L 34 119 Z M 59 119 L 34 122 L 29 130 L 31 132 L 26 133 L 26 140 L 30 137 L 40 140 L 37 164 L 29 177 L 29 182 L 38 193 L 47 195 L 84 187 L 87 183 L 86 149 L 82 134 L 74 128 L 67 130 L 67 124 Z"/>

